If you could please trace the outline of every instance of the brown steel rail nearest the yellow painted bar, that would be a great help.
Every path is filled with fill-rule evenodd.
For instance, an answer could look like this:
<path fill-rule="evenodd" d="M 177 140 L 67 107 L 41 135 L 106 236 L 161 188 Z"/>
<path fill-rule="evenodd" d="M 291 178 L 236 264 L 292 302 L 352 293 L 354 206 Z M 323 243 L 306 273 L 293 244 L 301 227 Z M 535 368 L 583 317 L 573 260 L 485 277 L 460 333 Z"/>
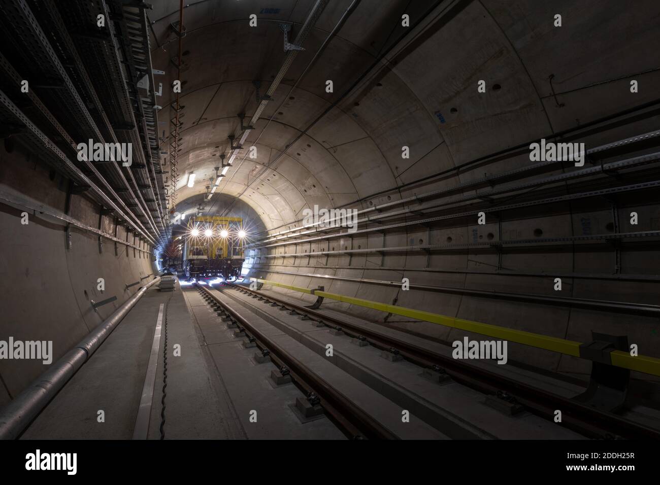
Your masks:
<path fill-rule="evenodd" d="M 265 300 L 277 302 L 281 306 L 294 309 L 298 313 L 309 315 L 311 319 L 334 324 L 331 326 L 339 326 L 344 333 L 347 333 L 348 329 L 350 330 L 348 332 L 349 335 L 352 332 L 356 337 L 360 335 L 367 337 L 370 343 L 374 344 L 377 348 L 396 348 L 407 360 L 411 360 L 411 362 L 425 368 L 437 369 L 439 367 L 445 369 L 457 381 L 477 385 L 480 389 L 487 389 L 490 392 L 506 391 L 515 397 L 520 404 L 523 404 L 523 406 L 529 408 L 531 412 L 541 418 L 552 420 L 554 419 L 554 410 L 560 409 L 562 410 L 561 426 L 566 426 L 586 436 L 603 438 L 614 437 L 612 436 L 614 434 L 615 436 L 628 439 L 660 439 L 659 430 L 647 428 L 611 412 L 591 408 L 572 399 L 550 393 L 520 381 L 515 381 L 514 379 L 504 377 L 503 375 L 478 366 L 472 366 L 462 360 L 437 354 L 406 340 L 397 339 L 391 335 L 383 335 L 368 327 L 354 325 L 349 321 L 332 317 L 327 313 L 293 304 L 271 294 L 260 293 L 258 290 L 252 290 L 247 286 L 235 283 L 229 283 L 229 286 L 242 292 L 259 295 L 265 298 Z"/>

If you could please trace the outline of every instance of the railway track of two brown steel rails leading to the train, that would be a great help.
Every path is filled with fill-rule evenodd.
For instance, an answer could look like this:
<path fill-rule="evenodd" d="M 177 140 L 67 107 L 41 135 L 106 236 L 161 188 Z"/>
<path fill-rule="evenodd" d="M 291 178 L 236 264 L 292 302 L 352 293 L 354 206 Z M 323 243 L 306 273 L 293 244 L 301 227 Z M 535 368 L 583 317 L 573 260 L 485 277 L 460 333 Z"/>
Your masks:
<path fill-rule="evenodd" d="M 446 373 L 458 383 L 476 389 L 485 395 L 497 396 L 508 403 L 515 403 L 525 410 L 540 416 L 545 420 L 554 418 L 554 411 L 562 410 L 561 426 L 573 430 L 578 434 L 597 439 L 659 439 L 660 432 L 638 422 L 618 416 L 611 412 L 597 410 L 582 403 L 578 403 L 564 396 L 550 393 L 527 383 L 511 379 L 501 373 L 492 372 L 483 366 L 471 365 L 463 360 L 455 360 L 449 356 L 432 352 L 428 348 L 418 346 L 408 340 L 397 338 L 391 333 L 379 331 L 378 326 L 366 328 L 358 326 L 348 319 L 341 319 L 323 311 L 305 307 L 284 300 L 273 294 L 267 296 L 259 290 L 252 290 L 239 284 L 228 284 L 226 288 L 253 297 L 271 307 L 287 310 L 301 319 L 315 321 L 329 329 L 341 331 L 354 339 L 366 340 L 368 344 L 383 350 L 398 354 L 405 360 L 414 363 L 420 368 L 431 370 L 434 373 Z M 393 439 L 396 438 L 391 430 L 383 427 L 378 420 L 364 412 L 341 392 L 337 391 L 331 383 L 324 381 L 304 362 L 289 354 L 286 349 L 269 338 L 232 305 L 218 298 L 219 293 L 208 286 L 198 285 L 197 289 L 207 302 L 218 308 L 219 315 L 225 315 L 235 322 L 240 329 L 245 329 L 248 339 L 253 339 L 260 349 L 267 349 L 271 359 L 280 368 L 290 372 L 296 384 L 313 399 L 317 399 L 328 416 L 338 424 L 349 437 Z M 224 289 L 223 289 L 224 292 Z"/>

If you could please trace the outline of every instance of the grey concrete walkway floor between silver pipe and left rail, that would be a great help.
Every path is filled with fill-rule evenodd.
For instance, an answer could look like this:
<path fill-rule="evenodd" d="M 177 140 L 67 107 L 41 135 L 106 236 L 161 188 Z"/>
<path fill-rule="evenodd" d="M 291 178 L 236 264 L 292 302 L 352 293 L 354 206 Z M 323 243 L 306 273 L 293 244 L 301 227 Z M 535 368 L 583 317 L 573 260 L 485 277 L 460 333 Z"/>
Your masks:
<path fill-rule="evenodd" d="M 168 359 L 166 438 L 226 438 L 224 416 L 211 385 L 189 309 L 180 290 L 155 286 L 24 432 L 24 439 L 131 439 L 147 373 L 160 306 L 168 307 L 168 342 L 181 356 Z M 162 325 L 165 325 L 163 319 Z M 160 340 L 149 439 L 160 437 L 162 346 Z M 171 352 L 170 352 L 171 354 Z M 84 399 L 81 399 L 84 396 Z M 104 422 L 99 422 L 99 411 Z"/>

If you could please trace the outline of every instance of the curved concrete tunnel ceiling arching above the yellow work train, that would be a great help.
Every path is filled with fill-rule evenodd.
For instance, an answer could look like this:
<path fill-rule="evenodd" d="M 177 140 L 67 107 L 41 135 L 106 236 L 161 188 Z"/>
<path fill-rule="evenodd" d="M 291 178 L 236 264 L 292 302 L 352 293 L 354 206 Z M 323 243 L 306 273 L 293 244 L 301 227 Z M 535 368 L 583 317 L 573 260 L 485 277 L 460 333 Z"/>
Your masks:
<path fill-rule="evenodd" d="M 562 30 L 539 24 L 552 15 L 536 11 L 549 7 L 526 1 L 506 8 L 497 1 L 414 2 L 414 11 L 406 10 L 408 4 L 354 6 L 301 78 L 350 2 L 325 7 L 216 190 L 246 201 L 268 228 L 292 224 L 314 205 L 367 207 L 406 197 L 416 187 L 399 185 L 627 108 L 625 96 L 608 97 L 607 108 L 583 100 L 586 92 L 607 96 L 609 84 L 627 84 L 630 75 L 647 71 L 645 59 L 653 49 L 651 31 L 638 32 L 632 44 L 622 46 L 602 28 L 603 20 L 614 18 L 615 30 L 634 28 L 643 9 L 623 5 L 583 15 L 587 7 L 567 4 L 562 12 L 579 28 Z M 184 9 L 178 200 L 213 185 L 218 157 L 230 152 L 228 136 L 238 140 L 242 133 L 237 114 L 246 113 L 247 123 L 258 106 L 253 82 L 261 83 L 263 95 L 281 67 L 279 24 L 293 24 L 293 38 L 312 5 L 281 2 L 273 14 L 253 12 L 246 2 L 200 2 Z M 414 35 L 395 42 L 405 30 L 402 11 L 410 13 L 413 26 L 420 24 Z M 432 14 L 425 15 L 428 11 Z M 256 28 L 249 26 L 251 13 L 259 14 Z M 175 101 L 168 86 L 177 73 L 178 37 L 170 24 L 178 15 L 176 1 L 149 12 L 153 65 L 166 71 L 155 77 L 164 86 L 163 120 L 176 114 L 168 110 Z M 557 48 L 563 45 L 584 50 Z M 593 45 L 619 59 L 614 71 L 609 63 L 603 67 L 602 57 L 589 55 Z M 639 55 L 624 55 L 628 49 Z M 651 83 L 657 71 L 639 77 Z M 488 84 L 486 96 L 477 92 L 480 79 Z M 333 93 L 325 90 L 327 80 L 334 82 Z M 561 108 L 555 95 L 562 98 Z M 635 96 L 642 104 L 654 93 L 646 89 Z M 167 130 L 164 135 L 167 141 Z M 257 148 L 256 158 L 249 157 L 249 146 Z M 410 158 L 402 158 L 403 146 L 410 148 Z M 519 163 L 514 158 L 455 178 L 466 181 Z M 197 179 L 190 189 L 185 184 L 193 172 Z M 424 190 L 447 183 L 453 182 L 426 183 Z"/>

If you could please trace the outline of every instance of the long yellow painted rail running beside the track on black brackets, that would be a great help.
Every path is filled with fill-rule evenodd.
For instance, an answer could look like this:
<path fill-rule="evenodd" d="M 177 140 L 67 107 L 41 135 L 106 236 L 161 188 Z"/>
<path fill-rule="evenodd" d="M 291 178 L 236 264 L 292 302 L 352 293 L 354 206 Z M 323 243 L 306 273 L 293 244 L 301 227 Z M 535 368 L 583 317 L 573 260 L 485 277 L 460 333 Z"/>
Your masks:
<path fill-rule="evenodd" d="M 431 313 L 430 311 L 416 310 L 414 308 L 400 307 L 389 305 L 380 302 L 372 302 L 371 300 L 363 300 L 362 298 L 354 298 L 352 296 L 344 296 L 334 293 L 328 293 L 320 290 L 312 290 L 309 288 L 302 288 L 300 286 L 291 286 L 290 284 L 278 283 L 275 281 L 261 280 L 259 278 L 250 278 L 251 281 L 257 281 L 271 286 L 279 286 L 279 288 L 286 288 L 308 295 L 314 294 L 315 296 L 322 296 L 337 302 L 344 302 L 351 305 L 371 308 L 385 313 L 393 313 L 394 315 L 401 315 L 403 317 L 410 317 L 416 320 L 428 321 L 430 323 L 437 323 L 446 327 L 454 329 L 461 329 L 488 337 L 495 337 L 496 339 L 508 340 L 523 345 L 529 345 L 536 348 L 543 348 L 552 352 L 559 352 L 574 357 L 580 356 L 580 346 L 582 342 L 575 340 L 557 339 L 556 337 L 548 337 L 540 333 L 525 332 L 522 330 L 508 329 L 506 327 L 498 327 L 497 325 L 490 325 L 488 323 L 480 323 L 478 321 L 463 320 L 455 317 L 447 317 L 446 315 L 438 315 L 438 313 Z M 610 354 L 612 366 L 622 367 L 638 372 L 660 376 L 660 359 L 649 356 L 631 356 L 628 352 L 621 350 L 614 350 Z"/>

